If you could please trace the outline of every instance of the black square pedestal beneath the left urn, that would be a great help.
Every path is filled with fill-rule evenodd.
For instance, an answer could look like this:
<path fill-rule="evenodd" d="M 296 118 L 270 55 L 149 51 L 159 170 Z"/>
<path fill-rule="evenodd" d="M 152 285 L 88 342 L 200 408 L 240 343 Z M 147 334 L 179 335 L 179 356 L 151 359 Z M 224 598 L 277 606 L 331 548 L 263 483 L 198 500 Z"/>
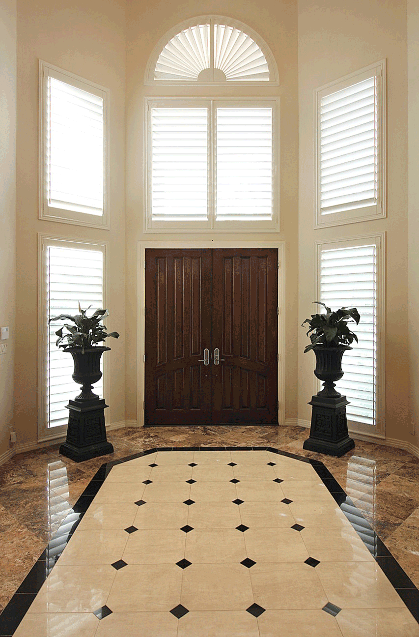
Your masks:
<path fill-rule="evenodd" d="M 113 445 L 106 440 L 103 399 L 70 400 L 67 438 L 60 446 L 60 454 L 76 462 L 113 453 Z"/>

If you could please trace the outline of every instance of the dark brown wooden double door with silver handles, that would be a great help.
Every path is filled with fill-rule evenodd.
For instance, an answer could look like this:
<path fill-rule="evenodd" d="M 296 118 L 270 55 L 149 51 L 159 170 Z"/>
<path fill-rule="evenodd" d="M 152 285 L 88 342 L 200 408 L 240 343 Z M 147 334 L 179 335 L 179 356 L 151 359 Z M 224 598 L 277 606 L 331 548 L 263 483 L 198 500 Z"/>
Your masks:
<path fill-rule="evenodd" d="M 145 424 L 278 424 L 278 251 L 146 250 Z"/>

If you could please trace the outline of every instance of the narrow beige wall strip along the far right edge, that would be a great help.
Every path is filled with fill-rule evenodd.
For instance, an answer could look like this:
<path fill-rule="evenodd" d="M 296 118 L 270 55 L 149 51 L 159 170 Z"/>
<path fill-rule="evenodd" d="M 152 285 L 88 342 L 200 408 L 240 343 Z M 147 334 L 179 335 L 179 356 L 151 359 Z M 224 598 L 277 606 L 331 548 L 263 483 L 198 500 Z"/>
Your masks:
<path fill-rule="evenodd" d="M 410 418 L 419 447 L 419 0 L 408 0 Z"/>

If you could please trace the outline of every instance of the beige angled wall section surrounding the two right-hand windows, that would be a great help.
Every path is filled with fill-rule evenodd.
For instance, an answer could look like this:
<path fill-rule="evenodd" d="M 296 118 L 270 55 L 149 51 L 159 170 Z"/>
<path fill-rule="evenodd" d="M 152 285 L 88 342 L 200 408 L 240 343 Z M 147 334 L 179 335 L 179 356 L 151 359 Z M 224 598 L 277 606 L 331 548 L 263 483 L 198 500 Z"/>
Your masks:
<path fill-rule="evenodd" d="M 311 313 L 315 240 L 387 232 L 386 436 L 408 434 L 408 215 L 406 3 L 401 0 L 298 0 L 299 25 L 299 323 Z M 313 230 L 313 91 L 387 58 L 387 212 L 383 220 Z M 417 250 L 416 250 L 417 252 Z M 301 354 L 298 414 L 308 420 L 313 354 Z M 409 440 L 411 441 L 411 440 Z"/>

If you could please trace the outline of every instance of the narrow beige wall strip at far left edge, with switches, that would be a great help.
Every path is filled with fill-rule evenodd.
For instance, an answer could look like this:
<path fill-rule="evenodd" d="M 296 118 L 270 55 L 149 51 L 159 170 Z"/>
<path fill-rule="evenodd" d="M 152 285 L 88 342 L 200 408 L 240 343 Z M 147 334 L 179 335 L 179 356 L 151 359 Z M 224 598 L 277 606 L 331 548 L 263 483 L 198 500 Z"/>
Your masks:
<path fill-rule="evenodd" d="M 0 355 L 0 457 L 10 448 L 15 359 L 16 0 L 0 0 L 0 326 L 9 327 Z"/>

